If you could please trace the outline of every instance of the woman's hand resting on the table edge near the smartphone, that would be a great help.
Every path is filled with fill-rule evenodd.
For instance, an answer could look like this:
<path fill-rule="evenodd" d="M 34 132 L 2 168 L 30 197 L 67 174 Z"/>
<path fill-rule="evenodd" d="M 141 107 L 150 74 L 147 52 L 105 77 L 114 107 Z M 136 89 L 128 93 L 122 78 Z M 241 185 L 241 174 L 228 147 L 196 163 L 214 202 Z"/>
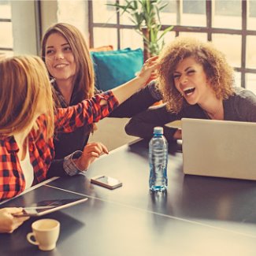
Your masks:
<path fill-rule="evenodd" d="M 87 170 L 91 163 L 104 153 L 109 154 L 109 151 L 102 143 L 88 143 L 83 148 L 83 154 L 76 159 L 76 166 L 80 170 Z"/>

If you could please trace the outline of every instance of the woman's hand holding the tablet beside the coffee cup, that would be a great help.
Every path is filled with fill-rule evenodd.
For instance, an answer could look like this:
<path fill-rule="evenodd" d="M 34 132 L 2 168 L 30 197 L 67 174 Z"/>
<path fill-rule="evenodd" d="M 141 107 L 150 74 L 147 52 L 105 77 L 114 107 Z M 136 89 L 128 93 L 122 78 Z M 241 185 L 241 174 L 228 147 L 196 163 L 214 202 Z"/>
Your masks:
<path fill-rule="evenodd" d="M 0 233 L 12 233 L 29 217 L 14 217 L 13 213 L 22 212 L 22 208 L 2 208 L 0 209 Z"/>

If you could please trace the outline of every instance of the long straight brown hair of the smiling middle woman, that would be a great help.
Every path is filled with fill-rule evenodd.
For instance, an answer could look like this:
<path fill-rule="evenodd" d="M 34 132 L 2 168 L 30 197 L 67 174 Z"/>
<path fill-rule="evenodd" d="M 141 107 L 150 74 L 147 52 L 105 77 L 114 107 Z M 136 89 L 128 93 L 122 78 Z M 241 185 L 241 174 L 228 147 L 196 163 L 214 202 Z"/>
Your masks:
<path fill-rule="evenodd" d="M 54 33 L 62 35 L 68 41 L 75 58 L 76 76 L 74 83 L 76 87 L 74 87 L 73 93 L 76 94 L 79 101 L 85 98 L 91 98 L 95 91 L 95 72 L 89 49 L 82 33 L 71 24 L 57 23 L 52 25 L 43 35 L 41 46 L 41 57 L 43 61 L 46 58 L 46 41 Z"/>

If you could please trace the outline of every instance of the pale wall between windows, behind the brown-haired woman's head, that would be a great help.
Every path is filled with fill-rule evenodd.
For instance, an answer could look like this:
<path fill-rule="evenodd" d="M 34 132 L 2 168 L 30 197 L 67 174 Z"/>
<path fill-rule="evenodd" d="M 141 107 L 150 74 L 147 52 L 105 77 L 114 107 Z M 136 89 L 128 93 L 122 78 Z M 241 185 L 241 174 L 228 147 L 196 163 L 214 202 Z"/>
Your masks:
<path fill-rule="evenodd" d="M 13 51 L 18 54 L 39 54 L 40 39 L 37 34 L 39 16 L 36 1 L 10 1 L 13 21 Z M 68 22 L 75 25 L 89 39 L 88 1 L 81 0 L 42 0 L 42 33 L 56 22 Z"/>

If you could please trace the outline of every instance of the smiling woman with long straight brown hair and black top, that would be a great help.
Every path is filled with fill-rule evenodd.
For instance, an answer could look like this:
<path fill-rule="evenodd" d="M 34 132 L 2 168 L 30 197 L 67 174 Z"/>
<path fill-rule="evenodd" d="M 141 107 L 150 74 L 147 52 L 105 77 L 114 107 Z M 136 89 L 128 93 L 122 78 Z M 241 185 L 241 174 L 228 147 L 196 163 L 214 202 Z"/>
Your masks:
<path fill-rule="evenodd" d="M 42 56 L 53 86 L 59 106 L 66 108 L 76 105 L 83 99 L 98 93 L 95 90 L 93 63 L 82 33 L 71 24 L 58 23 L 47 29 L 42 40 Z M 125 67 L 124 67 L 125 69 Z M 161 96 L 153 86 L 144 87 L 138 94 L 129 98 L 110 113 L 110 117 L 132 117 L 147 109 Z M 83 150 L 91 152 L 98 143 L 88 143 L 89 135 L 94 131 L 94 124 L 86 124 L 69 134 L 57 133 L 54 139 L 55 159 L 50 166 L 49 176 L 61 176 L 65 169 L 65 158 Z M 78 152 L 77 152 L 78 150 Z M 74 167 L 76 169 L 76 167 Z"/>

